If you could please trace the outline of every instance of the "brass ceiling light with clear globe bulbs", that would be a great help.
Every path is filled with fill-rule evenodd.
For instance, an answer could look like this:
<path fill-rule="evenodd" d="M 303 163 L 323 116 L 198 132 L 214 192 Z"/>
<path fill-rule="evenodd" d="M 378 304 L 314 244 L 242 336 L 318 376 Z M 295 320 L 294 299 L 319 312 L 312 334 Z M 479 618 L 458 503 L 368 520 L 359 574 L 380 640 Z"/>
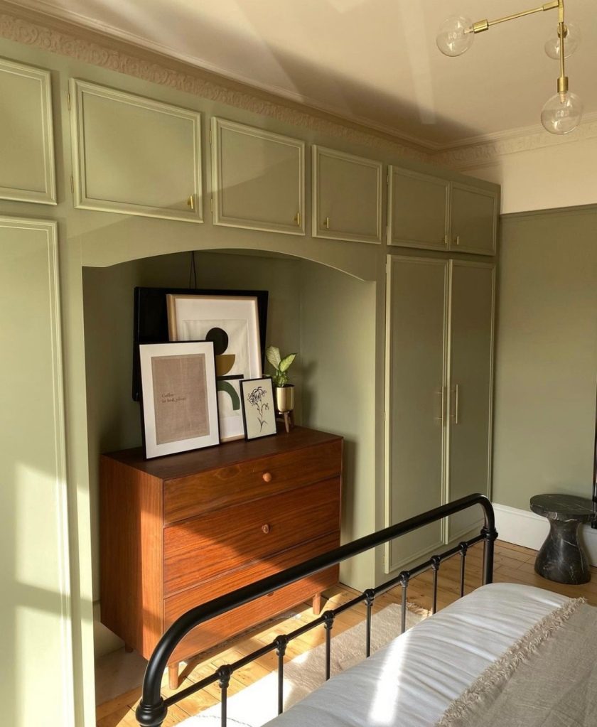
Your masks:
<path fill-rule="evenodd" d="M 479 20 L 478 23 L 472 23 L 468 17 L 450 17 L 439 28 L 436 42 L 444 55 L 455 57 L 468 51 L 476 33 L 488 31 L 492 25 L 505 23 L 506 20 L 516 20 L 535 12 L 554 9 L 558 10 L 557 33 L 545 44 L 545 52 L 549 57 L 559 60 L 560 76 L 558 92 L 550 97 L 542 108 L 541 123 L 551 134 L 567 134 L 580 124 L 582 101 L 569 90 L 568 76 L 564 69 L 564 59 L 572 55 L 580 43 L 580 32 L 576 26 L 572 23 L 569 25 L 564 23 L 564 0 L 552 0 L 540 7 L 499 17 L 497 20 Z"/>

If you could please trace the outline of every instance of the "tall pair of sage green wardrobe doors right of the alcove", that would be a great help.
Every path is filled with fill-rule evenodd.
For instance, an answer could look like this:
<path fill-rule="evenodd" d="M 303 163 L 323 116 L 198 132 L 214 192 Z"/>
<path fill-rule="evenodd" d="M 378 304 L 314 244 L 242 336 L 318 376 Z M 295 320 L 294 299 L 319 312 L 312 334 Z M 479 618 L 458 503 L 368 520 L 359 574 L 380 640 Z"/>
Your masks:
<path fill-rule="evenodd" d="M 388 522 L 489 495 L 494 263 L 388 256 Z M 393 542 L 386 570 L 461 539 L 481 511 Z"/>

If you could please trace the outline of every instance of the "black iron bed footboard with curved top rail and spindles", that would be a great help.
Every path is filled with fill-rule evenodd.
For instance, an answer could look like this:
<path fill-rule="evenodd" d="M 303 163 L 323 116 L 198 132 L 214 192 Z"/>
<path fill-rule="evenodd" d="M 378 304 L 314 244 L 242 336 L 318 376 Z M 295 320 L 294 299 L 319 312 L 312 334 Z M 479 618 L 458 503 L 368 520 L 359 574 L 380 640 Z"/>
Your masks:
<path fill-rule="evenodd" d="M 263 646 L 262 648 L 253 651 L 252 654 L 247 654 L 242 659 L 234 662 L 233 664 L 224 664 L 217 669 L 212 675 L 201 681 L 192 684 L 176 694 L 169 696 L 167 699 L 163 699 L 160 694 L 161 679 L 164 674 L 164 669 L 167 667 L 168 659 L 176 646 L 182 640 L 185 635 L 191 631 L 191 629 L 199 626 L 209 619 L 215 616 L 220 616 L 226 611 L 231 611 L 232 608 L 242 606 L 244 603 L 254 601 L 255 598 L 260 598 L 263 595 L 272 593 L 278 590 L 282 586 L 294 583 L 302 578 L 305 578 L 317 571 L 334 566 L 341 561 L 345 561 L 351 558 L 353 555 L 364 553 L 366 550 L 370 550 L 373 547 L 382 545 L 385 542 L 396 539 L 401 535 L 409 533 L 413 530 L 421 528 L 422 526 L 428 525 L 429 523 L 436 522 L 445 518 L 447 515 L 454 515 L 459 513 L 461 510 L 466 510 L 468 507 L 473 505 L 481 505 L 484 511 L 484 526 L 481 528 L 481 533 L 476 537 L 459 543 L 459 545 L 450 548 L 438 555 L 433 555 L 425 563 L 421 563 L 408 571 L 401 571 L 397 576 L 390 580 L 382 583 L 382 585 L 376 588 L 369 588 L 361 595 L 356 596 L 346 603 L 342 603 L 341 606 L 334 608 L 331 611 L 324 611 L 321 616 L 318 616 L 313 621 L 309 622 L 290 632 L 289 634 L 277 636 L 270 644 Z M 467 497 L 462 497 L 455 500 L 448 505 L 441 505 L 436 507 L 434 510 L 429 510 L 427 513 L 422 513 L 414 518 L 409 518 L 397 525 L 390 526 L 377 533 L 366 535 L 365 537 L 358 538 L 353 542 L 347 543 L 340 547 L 329 550 L 328 553 L 318 555 L 316 558 L 311 558 L 309 561 L 300 563 L 297 566 L 292 566 L 285 571 L 281 571 L 273 576 L 263 578 L 260 581 L 252 583 L 250 585 L 239 588 L 238 590 L 228 593 L 226 595 L 215 598 L 212 601 L 191 608 L 185 614 L 180 616 L 173 624 L 169 627 L 167 632 L 159 640 L 151 659 L 149 659 L 147 670 L 145 671 L 145 678 L 143 680 L 143 694 L 141 701 L 136 710 L 137 721 L 143 727 L 161 727 L 164 719 L 167 716 L 168 707 L 176 702 L 180 702 L 181 699 L 194 694 L 210 684 L 217 682 L 221 690 L 221 724 L 222 727 L 226 727 L 227 720 L 227 693 L 228 685 L 231 680 L 233 672 L 246 666 L 255 659 L 260 658 L 264 654 L 268 654 L 271 651 L 276 651 L 278 656 L 278 713 L 280 714 L 283 710 L 284 693 L 283 693 L 283 679 L 284 679 L 284 654 L 286 652 L 287 644 L 293 638 L 297 638 L 305 632 L 313 629 L 314 627 L 324 624 L 325 635 L 326 635 L 326 680 L 329 679 L 330 670 L 330 651 L 332 642 L 332 627 L 334 625 L 334 617 L 337 614 L 346 611 L 351 606 L 356 606 L 358 603 L 365 603 L 366 605 L 366 643 L 365 643 L 365 656 L 369 656 L 371 651 L 371 616 L 372 606 L 374 599 L 377 595 L 385 593 L 390 590 L 393 586 L 401 585 L 402 587 L 402 615 L 401 615 L 401 633 L 406 628 L 406 591 L 408 589 L 409 580 L 417 576 L 424 571 L 433 571 L 433 608 L 432 612 L 436 612 L 437 607 L 437 589 L 438 589 L 438 571 L 441 563 L 447 558 L 452 558 L 454 555 L 460 554 L 460 595 L 465 593 L 465 561 L 466 554 L 470 546 L 475 545 L 478 542 L 484 542 L 483 551 L 483 584 L 491 583 L 493 581 L 493 558 L 494 558 L 494 540 L 497 538 L 497 530 L 495 529 L 495 518 L 494 511 L 491 502 L 484 495 L 472 494 Z"/>

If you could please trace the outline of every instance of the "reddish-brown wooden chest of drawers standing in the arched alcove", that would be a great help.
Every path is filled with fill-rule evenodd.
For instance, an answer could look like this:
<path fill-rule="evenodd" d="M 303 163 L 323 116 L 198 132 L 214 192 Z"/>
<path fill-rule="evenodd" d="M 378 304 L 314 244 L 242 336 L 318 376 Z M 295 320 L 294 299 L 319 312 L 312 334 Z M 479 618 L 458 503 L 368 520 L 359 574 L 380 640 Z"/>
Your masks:
<path fill-rule="evenodd" d="M 161 459 L 103 454 L 103 624 L 147 659 L 189 608 L 337 547 L 341 471 L 342 439 L 303 427 Z M 197 627 L 172 669 L 336 582 L 334 567 Z"/>

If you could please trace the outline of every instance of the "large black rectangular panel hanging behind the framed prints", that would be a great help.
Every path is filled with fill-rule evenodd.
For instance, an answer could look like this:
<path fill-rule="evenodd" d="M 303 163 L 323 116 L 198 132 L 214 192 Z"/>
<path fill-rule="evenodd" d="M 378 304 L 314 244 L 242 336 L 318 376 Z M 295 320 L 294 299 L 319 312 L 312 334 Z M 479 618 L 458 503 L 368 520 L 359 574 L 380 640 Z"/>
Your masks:
<path fill-rule="evenodd" d="M 140 398 L 140 343 L 167 343 L 168 310 L 167 294 L 180 295 L 221 295 L 223 297 L 243 296 L 257 298 L 259 317 L 259 338 L 261 365 L 265 366 L 265 329 L 268 322 L 267 290 L 223 290 L 204 288 L 150 288 L 137 286 L 134 292 L 133 308 L 133 346 L 132 346 L 132 399 Z"/>

